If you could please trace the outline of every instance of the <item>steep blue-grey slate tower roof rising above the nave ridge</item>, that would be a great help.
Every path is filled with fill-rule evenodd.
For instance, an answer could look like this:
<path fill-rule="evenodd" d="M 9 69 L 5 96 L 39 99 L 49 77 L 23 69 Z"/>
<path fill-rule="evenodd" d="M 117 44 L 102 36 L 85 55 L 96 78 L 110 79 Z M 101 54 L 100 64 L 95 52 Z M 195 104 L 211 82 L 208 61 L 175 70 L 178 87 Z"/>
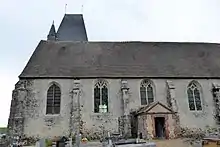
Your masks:
<path fill-rule="evenodd" d="M 57 30 L 58 41 L 88 41 L 82 14 L 65 14 Z"/>

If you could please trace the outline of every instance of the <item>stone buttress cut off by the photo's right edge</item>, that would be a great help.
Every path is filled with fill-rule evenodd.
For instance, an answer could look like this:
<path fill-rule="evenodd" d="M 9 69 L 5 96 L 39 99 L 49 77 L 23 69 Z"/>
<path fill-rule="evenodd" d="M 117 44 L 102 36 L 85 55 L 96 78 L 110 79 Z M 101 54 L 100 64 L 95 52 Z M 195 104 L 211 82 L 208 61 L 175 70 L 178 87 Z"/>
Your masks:
<path fill-rule="evenodd" d="M 216 121 L 220 123 L 220 85 L 217 83 L 212 84 L 213 100 L 215 104 L 215 117 Z"/>

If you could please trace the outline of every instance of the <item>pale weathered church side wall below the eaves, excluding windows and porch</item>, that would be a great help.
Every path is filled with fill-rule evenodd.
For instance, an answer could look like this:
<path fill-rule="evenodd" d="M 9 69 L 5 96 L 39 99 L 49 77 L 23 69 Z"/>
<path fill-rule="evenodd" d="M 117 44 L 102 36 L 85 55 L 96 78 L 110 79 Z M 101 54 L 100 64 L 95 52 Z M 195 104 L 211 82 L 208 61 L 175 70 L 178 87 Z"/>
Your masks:
<path fill-rule="evenodd" d="M 118 118 L 124 115 L 121 92 L 121 79 L 106 79 L 109 84 L 109 112 L 105 115 L 93 112 L 93 86 L 96 79 L 81 79 L 80 119 L 81 131 L 85 136 L 100 136 L 103 130 L 117 132 Z M 170 79 L 175 85 L 175 98 L 178 106 L 179 124 L 181 127 L 204 128 L 215 126 L 213 119 L 212 83 L 220 80 L 198 79 L 202 87 L 202 112 L 192 112 L 188 108 L 187 85 L 192 79 Z M 142 79 L 127 79 L 129 85 L 129 109 L 140 107 L 140 83 Z M 152 79 L 155 85 L 155 101 L 167 103 L 166 79 Z M 46 115 L 46 95 L 51 83 L 56 82 L 61 88 L 61 113 Z M 47 137 L 68 136 L 75 132 L 76 127 L 72 114 L 73 106 L 71 91 L 74 88 L 73 79 L 36 79 L 20 80 L 13 91 L 11 113 L 9 117 L 9 132 L 18 135 Z M 72 109 L 73 108 L 73 109 Z M 76 115 L 74 115 L 76 116 Z M 16 125 L 19 123 L 19 125 Z M 71 131 L 71 128 L 73 130 Z M 93 133 L 91 133 L 93 132 Z M 99 134 L 99 135 L 97 135 Z"/>

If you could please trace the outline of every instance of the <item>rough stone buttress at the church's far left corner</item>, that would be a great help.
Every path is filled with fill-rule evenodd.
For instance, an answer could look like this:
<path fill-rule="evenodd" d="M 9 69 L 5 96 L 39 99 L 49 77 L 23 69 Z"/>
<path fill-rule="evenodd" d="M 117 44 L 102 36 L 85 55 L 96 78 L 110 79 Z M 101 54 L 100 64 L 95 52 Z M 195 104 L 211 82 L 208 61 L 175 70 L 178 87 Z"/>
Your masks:
<path fill-rule="evenodd" d="M 24 135 L 24 112 L 25 112 L 25 98 L 27 95 L 26 81 L 19 81 L 13 90 L 10 116 L 8 121 L 9 135 L 23 136 Z"/>

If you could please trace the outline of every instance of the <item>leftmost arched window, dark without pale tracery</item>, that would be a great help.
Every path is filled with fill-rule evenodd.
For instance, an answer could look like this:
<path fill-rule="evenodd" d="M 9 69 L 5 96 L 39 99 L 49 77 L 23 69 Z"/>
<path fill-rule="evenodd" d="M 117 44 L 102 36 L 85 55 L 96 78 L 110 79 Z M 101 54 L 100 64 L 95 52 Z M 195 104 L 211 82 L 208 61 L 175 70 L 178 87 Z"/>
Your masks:
<path fill-rule="evenodd" d="M 60 113 L 60 88 L 53 84 L 47 91 L 47 108 L 46 114 L 59 114 Z"/>

